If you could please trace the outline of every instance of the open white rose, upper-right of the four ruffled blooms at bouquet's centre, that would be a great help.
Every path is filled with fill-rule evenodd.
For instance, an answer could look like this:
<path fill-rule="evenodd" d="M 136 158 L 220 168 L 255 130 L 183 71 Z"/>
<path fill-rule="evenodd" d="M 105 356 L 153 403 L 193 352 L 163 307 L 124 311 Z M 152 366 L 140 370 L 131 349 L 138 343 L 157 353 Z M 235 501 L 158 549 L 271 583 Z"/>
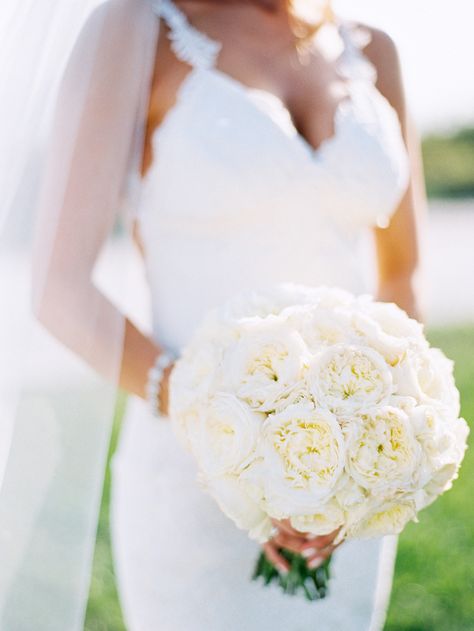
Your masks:
<path fill-rule="evenodd" d="M 382 404 L 392 394 L 392 376 L 383 357 L 364 346 L 338 344 L 317 355 L 307 372 L 318 406 L 337 415 Z"/>

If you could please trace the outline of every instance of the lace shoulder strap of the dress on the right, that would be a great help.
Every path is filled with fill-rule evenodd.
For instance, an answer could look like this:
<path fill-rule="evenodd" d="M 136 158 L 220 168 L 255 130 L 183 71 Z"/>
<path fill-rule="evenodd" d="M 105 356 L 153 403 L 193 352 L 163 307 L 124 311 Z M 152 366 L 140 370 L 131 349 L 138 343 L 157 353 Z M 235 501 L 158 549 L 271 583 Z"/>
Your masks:
<path fill-rule="evenodd" d="M 338 30 L 344 45 L 339 58 L 339 70 L 349 79 L 375 83 L 377 70 L 363 52 L 372 39 L 369 30 L 343 20 L 339 22 Z"/>

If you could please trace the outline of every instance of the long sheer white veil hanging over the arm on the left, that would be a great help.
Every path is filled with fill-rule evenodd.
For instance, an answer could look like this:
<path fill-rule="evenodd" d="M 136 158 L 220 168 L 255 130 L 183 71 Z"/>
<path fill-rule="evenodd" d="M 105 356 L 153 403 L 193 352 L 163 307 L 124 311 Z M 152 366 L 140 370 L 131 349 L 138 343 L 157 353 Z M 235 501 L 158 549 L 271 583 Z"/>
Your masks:
<path fill-rule="evenodd" d="M 107 253 L 158 22 L 147 0 L 7 0 L 0 32 L 0 628 L 76 631 L 123 348 Z"/>

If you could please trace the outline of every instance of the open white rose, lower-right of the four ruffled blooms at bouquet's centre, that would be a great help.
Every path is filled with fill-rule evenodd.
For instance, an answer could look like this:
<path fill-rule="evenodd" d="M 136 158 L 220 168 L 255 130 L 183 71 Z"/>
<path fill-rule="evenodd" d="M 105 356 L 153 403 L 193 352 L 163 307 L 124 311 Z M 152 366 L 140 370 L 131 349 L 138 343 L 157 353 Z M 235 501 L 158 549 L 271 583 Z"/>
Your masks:
<path fill-rule="evenodd" d="M 347 469 L 357 484 L 376 494 L 411 489 L 421 448 L 408 416 L 384 406 L 348 423 L 353 432 L 347 448 Z"/>

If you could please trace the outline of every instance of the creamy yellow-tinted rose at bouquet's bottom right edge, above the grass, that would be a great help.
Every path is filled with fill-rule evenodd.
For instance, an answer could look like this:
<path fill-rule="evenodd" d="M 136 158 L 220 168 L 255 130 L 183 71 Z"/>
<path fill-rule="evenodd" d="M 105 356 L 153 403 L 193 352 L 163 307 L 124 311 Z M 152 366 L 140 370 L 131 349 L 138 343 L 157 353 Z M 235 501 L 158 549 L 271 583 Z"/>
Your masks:
<path fill-rule="evenodd" d="M 350 538 L 366 539 L 383 535 L 398 535 L 409 521 L 416 521 L 414 501 L 391 501 L 376 506 L 360 521 L 348 527 Z"/>

